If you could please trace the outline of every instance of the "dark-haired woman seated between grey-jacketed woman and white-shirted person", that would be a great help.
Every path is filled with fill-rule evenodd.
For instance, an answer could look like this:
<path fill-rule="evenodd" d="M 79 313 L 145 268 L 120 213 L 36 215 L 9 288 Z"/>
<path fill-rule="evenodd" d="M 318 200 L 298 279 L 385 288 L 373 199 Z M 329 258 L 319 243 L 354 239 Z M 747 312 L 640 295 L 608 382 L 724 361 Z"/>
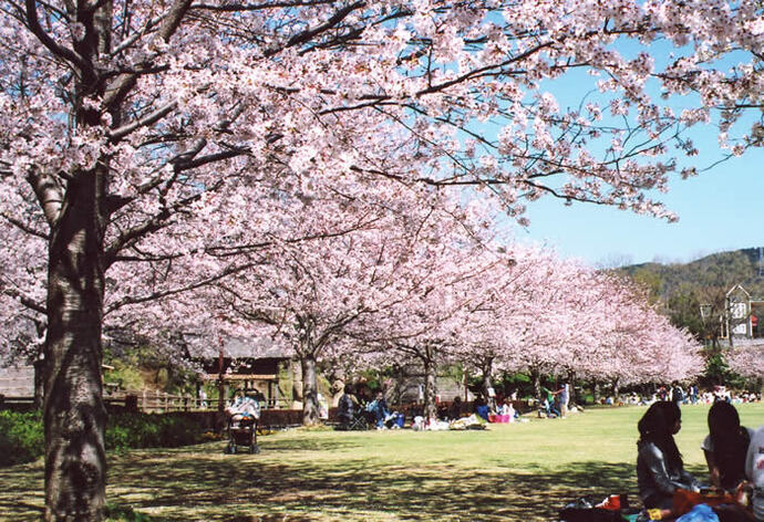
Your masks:
<path fill-rule="evenodd" d="M 734 406 L 717 400 L 709 410 L 709 435 L 701 448 L 709 463 L 711 483 L 733 491 L 745 480 L 745 455 L 753 430 L 740 425 Z"/>

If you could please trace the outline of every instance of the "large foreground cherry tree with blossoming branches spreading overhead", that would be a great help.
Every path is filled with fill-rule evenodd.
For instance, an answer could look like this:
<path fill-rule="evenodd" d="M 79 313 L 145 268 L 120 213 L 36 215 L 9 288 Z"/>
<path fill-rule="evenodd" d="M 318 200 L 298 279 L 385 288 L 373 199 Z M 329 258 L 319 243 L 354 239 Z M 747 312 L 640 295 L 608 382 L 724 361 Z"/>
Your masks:
<path fill-rule="evenodd" d="M 466 184 L 518 219 L 544 195 L 672 218 L 648 192 L 677 169 L 669 147 L 694 154 L 677 124 L 720 107 L 726 145 L 739 112 L 761 105 L 761 7 L 747 0 L 1 6 L 0 215 L 45 244 L 47 520 L 102 518 L 101 338 L 117 264 L 251 251 L 231 250 L 225 223 L 240 203 L 257 219 L 250 190 L 264 187 Z M 658 70 L 616 49 L 632 35 L 689 52 Z M 739 49 L 753 59 L 709 65 Z M 561 108 L 540 86 L 579 67 L 601 74 L 605 102 Z M 698 106 L 659 106 L 649 79 L 699 91 Z M 731 152 L 758 145 L 760 128 Z"/>

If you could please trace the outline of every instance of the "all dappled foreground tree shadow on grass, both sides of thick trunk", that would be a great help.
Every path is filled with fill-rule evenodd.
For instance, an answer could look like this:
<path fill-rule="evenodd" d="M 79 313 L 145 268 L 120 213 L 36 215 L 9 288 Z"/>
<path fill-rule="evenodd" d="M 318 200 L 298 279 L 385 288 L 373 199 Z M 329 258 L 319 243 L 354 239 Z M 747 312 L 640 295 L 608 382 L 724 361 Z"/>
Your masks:
<path fill-rule="evenodd" d="M 362 443 L 269 440 L 264 453 L 227 456 L 217 442 L 113 455 L 107 497 L 154 521 L 220 522 L 551 521 L 580 497 L 627 493 L 638 503 L 633 464 L 539 462 L 523 471 L 455 467 L 447 458 L 379 464 L 348 457 Z M 342 459 L 328 455 L 338 451 Z M 285 457 L 291 452 L 299 458 Z M 0 483 L 2 520 L 39 520 L 41 462 L 0 470 Z"/>

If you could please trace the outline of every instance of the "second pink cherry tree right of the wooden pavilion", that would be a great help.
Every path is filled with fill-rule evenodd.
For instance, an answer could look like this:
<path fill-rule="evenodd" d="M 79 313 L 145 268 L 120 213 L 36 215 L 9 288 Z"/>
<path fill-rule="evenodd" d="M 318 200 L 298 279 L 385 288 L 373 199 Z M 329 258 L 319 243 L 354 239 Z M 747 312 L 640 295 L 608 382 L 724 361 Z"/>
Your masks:
<path fill-rule="evenodd" d="M 425 418 L 436 417 L 437 369 L 454 361 L 465 317 L 486 299 L 483 284 L 514 263 L 507 252 L 489 250 L 485 238 L 476 240 L 479 231 L 460 233 L 462 223 L 443 223 L 438 240 L 412 244 L 395 272 L 400 299 L 348 332 L 370 362 L 421 368 Z"/>

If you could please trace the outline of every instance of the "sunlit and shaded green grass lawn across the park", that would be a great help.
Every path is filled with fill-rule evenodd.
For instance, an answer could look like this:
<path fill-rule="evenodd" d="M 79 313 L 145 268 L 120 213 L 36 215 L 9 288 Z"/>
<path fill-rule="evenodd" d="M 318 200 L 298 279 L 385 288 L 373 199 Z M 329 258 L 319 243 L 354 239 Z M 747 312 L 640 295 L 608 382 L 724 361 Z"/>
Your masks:
<path fill-rule="evenodd" d="M 705 477 L 708 406 L 685 406 L 678 435 L 686 467 Z M 764 404 L 737 407 L 764 424 Z M 223 441 L 110 455 L 111 505 L 152 521 L 546 521 L 579 497 L 637 501 L 642 407 L 486 431 L 288 430 L 260 437 L 260 455 Z M 0 470 L 0 520 L 38 520 L 42 462 Z"/>

